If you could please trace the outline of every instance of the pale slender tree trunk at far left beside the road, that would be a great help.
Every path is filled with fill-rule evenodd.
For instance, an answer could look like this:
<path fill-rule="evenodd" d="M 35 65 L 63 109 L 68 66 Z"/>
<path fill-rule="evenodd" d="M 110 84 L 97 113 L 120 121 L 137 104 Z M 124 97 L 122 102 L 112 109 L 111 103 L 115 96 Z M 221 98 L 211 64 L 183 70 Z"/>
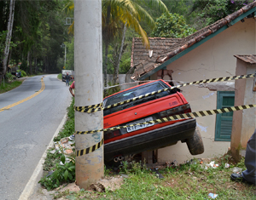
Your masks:
<path fill-rule="evenodd" d="M 14 18 L 15 18 L 15 0 L 10 0 L 9 3 L 9 21 L 7 26 L 7 35 L 5 40 L 5 49 L 3 52 L 3 61 L 2 61 L 2 69 L 0 69 L 0 83 L 3 79 L 3 76 L 6 73 L 7 70 L 7 60 L 9 56 L 9 44 L 11 42 L 12 38 L 12 31 L 13 31 L 13 24 L 14 24 Z"/>

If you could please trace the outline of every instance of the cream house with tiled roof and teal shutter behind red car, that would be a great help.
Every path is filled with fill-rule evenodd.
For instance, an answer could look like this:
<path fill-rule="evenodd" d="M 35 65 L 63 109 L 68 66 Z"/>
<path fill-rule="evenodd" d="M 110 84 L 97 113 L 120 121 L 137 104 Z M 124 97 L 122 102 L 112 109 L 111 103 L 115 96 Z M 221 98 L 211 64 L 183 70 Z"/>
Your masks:
<path fill-rule="evenodd" d="M 131 79 L 138 81 L 162 78 L 172 80 L 177 85 L 213 77 L 235 76 L 234 55 L 256 53 L 255 15 L 256 2 L 253 2 L 189 37 L 149 38 L 149 51 L 144 49 L 141 38 L 134 38 Z M 213 110 L 235 104 L 235 81 L 190 85 L 180 89 L 193 111 Z M 254 111 L 254 115 L 250 116 L 254 119 L 249 124 L 253 127 L 251 129 L 256 128 L 255 116 Z M 205 145 L 205 152 L 196 157 L 214 157 L 227 152 L 232 124 L 234 125 L 233 113 L 198 117 L 196 120 Z M 247 130 L 249 129 L 243 129 Z M 183 162 L 191 158 L 186 143 L 158 150 L 158 162 Z"/>

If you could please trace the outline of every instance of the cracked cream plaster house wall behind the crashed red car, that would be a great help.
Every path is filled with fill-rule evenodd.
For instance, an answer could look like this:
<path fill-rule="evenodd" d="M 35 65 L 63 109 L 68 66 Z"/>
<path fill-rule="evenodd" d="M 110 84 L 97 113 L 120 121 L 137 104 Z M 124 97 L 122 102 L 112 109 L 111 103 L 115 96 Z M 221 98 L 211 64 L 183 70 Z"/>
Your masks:
<path fill-rule="evenodd" d="M 215 37 L 202 43 L 188 54 L 173 61 L 166 67 L 172 70 L 172 79 L 179 82 L 193 82 L 213 77 L 230 77 L 236 74 L 236 58 L 234 54 L 255 54 L 255 20 L 245 19 L 237 22 Z M 156 79 L 155 73 L 150 79 Z M 227 83 L 224 83 L 227 85 Z M 222 88 L 219 83 L 215 89 L 219 91 L 234 91 L 234 82 L 228 83 L 231 87 Z M 233 84 L 233 85 L 232 85 Z M 186 86 L 181 88 L 183 95 L 189 101 L 192 111 L 204 111 L 216 109 L 217 91 L 212 91 L 199 86 Z M 183 163 L 193 157 L 214 157 L 224 154 L 230 147 L 230 142 L 214 141 L 216 116 L 198 117 L 199 129 L 205 152 L 198 156 L 192 156 L 186 143 L 178 142 L 175 146 L 168 146 L 158 152 L 159 162 L 177 160 Z"/>

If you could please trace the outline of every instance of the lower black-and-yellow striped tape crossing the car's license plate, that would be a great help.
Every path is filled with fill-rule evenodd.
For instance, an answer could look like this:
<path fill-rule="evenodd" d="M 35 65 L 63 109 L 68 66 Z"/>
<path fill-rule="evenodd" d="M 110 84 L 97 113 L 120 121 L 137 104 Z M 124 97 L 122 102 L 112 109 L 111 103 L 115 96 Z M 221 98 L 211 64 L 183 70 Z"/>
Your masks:
<path fill-rule="evenodd" d="M 141 124 L 166 123 L 166 122 L 169 122 L 169 121 L 186 119 L 186 118 L 205 117 L 205 116 L 209 116 L 209 115 L 221 114 L 221 113 L 224 113 L 224 112 L 241 111 L 241 110 L 248 109 L 248 108 L 253 108 L 253 107 L 256 107 L 256 105 L 251 104 L 251 105 L 243 105 L 243 106 L 232 106 L 232 107 L 226 107 L 226 108 L 222 108 L 222 109 L 208 110 L 208 111 L 193 111 L 193 112 L 184 113 L 184 114 L 180 114 L 180 115 L 174 115 L 174 116 L 171 116 L 171 117 L 163 117 L 163 118 L 156 119 L 156 120 L 151 120 L 151 121 L 148 121 L 148 122 L 145 122 L 145 123 L 135 123 L 135 124 L 131 124 L 131 125 L 112 127 L 112 128 L 108 128 L 108 129 L 76 131 L 75 134 L 95 134 L 95 133 L 101 132 L 101 131 L 123 129 L 123 128 L 137 126 L 137 125 L 141 125 Z"/>

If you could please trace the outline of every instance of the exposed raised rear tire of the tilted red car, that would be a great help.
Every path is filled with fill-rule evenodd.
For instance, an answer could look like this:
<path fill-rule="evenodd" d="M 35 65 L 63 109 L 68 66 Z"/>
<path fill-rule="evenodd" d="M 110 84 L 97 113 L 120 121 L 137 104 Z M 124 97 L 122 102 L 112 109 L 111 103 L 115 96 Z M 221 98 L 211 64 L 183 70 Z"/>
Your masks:
<path fill-rule="evenodd" d="M 186 140 L 186 143 L 191 155 L 198 155 L 205 151 L 204 144 L 201 139 L 201 134 L 198 130 L 195 130 L 194 136 Z"/>

